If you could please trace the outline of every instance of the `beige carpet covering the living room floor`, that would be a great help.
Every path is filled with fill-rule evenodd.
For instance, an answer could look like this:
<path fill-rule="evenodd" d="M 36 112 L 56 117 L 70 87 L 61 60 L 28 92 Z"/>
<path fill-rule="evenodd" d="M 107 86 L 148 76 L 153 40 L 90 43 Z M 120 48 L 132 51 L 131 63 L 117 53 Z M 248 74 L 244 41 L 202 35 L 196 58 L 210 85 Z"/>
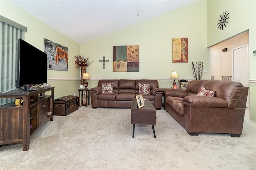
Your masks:
<path fill-rule="evenodd" d="M 244 121 L 243 134 L 189 136 L 164 109 L 151 125 L 135 125 L 130 109 L 79 107 L 55 116 L 22 144 L 0 148 L 1 170 L 255 170 L 256 125 Z"/>

